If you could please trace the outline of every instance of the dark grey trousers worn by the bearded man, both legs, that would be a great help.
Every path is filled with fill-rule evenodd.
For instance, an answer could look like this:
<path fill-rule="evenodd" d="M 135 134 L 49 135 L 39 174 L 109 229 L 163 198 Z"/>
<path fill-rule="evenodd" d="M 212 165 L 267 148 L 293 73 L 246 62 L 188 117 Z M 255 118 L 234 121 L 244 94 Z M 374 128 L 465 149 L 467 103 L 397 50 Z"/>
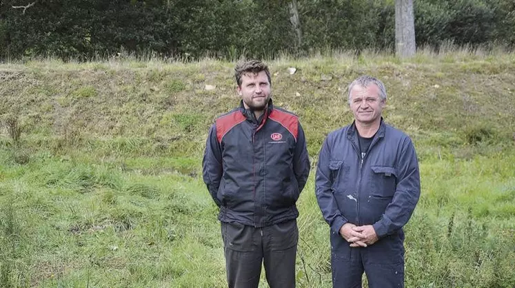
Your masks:
<path fill-rule="evenodd" d="M 221 223 L 221 229 L 230 288 L 258 287 L 262 263 L 270 288 L 295 287 L 296 220 L 262 228 Z"/>

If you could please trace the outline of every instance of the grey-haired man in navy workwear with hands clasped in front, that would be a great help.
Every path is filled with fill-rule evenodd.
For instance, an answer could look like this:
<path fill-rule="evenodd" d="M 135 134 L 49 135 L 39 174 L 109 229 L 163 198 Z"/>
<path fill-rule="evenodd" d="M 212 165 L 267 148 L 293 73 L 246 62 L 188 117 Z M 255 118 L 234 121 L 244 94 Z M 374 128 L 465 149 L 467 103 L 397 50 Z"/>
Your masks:
<path fill-rule="evenodd" d="M 330 225 L 333 287 L 404 287 L 404 232 L 420 196 L 413 143 L 383 122 L 385 86 L 361 76 L 349 86 L 354 123 L 320 151 L 316 198 Z"/>

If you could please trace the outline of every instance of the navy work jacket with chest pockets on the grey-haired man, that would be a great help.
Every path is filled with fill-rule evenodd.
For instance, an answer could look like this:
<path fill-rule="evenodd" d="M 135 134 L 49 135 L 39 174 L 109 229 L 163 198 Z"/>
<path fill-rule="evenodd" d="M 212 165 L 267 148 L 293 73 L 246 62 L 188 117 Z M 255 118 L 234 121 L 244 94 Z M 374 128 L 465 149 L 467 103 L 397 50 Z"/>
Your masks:
<path fill-rule="evenodd" d="M 316 169 L 316 198 L 323 218 L 338 233 L 347 222 L 373 225 L 379 238 L 410 220 L 421 192 L 414 145 L 383 122 L 364 158 L 354 123 L 331 132 Z"/>

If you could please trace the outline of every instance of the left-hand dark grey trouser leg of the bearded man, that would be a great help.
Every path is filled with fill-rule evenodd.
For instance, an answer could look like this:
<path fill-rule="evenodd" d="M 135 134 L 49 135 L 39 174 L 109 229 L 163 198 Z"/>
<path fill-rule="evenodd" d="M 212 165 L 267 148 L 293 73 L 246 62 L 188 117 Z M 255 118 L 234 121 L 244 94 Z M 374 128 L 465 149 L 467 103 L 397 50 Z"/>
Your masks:
<path fill-rule="evenodd" d="M 256 288 L 263 249 L 259 229 L 239 223 L 221 223 L 225 268 L 230 288 Z"/>

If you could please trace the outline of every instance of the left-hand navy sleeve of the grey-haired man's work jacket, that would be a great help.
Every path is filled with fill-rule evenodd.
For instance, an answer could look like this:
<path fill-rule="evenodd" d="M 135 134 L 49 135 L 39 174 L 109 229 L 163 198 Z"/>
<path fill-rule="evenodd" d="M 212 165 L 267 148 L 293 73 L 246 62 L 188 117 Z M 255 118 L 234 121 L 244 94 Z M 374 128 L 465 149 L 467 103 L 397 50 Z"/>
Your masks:
<path fill-rule="evenodd" d="M 334 233 L 339 233 L 340 228 L 348 221 L 338 209 L 336 199 L 334 199 L 332 193 L 332 177 L 329 169 L 330 155 L 331 145 L 328 136 L 322 145 L 319 163 L 316 165 L 315 194 L 325 222 L 330 225 Z"/>

